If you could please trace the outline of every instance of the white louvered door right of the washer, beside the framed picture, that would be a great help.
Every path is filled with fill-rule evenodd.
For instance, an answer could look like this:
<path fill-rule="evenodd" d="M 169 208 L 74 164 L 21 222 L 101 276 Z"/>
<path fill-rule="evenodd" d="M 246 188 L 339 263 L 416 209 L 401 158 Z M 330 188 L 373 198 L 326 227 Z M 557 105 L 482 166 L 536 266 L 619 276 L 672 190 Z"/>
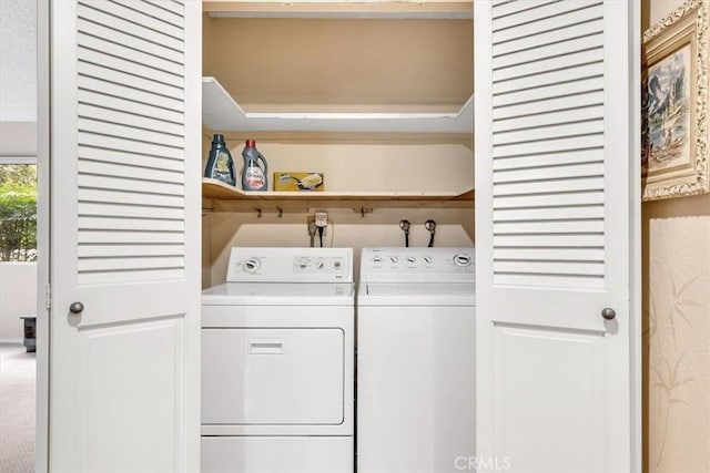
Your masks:
<path fill-rule="evenodd" d="M 639 467 L 638 12 L 475 3 L 479 471 Z"/>

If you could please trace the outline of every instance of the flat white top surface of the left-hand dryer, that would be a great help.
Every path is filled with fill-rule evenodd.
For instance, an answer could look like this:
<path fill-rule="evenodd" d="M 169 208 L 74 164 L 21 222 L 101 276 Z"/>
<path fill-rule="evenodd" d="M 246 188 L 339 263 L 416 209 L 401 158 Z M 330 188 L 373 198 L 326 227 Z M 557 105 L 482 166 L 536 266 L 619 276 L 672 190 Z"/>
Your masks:
<path fill-rule="evenodd" d="M 203 306 L 352 306 L 347 284 L 226 282 L 202 291 Z"/>

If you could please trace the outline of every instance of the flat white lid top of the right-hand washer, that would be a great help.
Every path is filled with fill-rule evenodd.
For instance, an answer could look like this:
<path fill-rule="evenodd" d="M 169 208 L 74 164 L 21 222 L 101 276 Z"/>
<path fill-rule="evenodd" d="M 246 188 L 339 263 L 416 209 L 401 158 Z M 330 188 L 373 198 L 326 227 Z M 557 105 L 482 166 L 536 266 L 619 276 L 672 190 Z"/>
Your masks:
<path fill-rule="evenodd" d="M 362 284 L 358 306 L 475 306 L 473 282 Z"/>

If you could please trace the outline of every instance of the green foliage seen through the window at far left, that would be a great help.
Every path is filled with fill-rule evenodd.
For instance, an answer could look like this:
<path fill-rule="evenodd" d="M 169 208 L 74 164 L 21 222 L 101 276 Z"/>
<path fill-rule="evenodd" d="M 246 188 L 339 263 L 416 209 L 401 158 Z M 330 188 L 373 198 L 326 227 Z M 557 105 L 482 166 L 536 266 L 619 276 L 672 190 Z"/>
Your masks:
<path fill-rule="evenodd" d="M 37 166 L 0 165 L 0 261 L 37 259 Z"/>

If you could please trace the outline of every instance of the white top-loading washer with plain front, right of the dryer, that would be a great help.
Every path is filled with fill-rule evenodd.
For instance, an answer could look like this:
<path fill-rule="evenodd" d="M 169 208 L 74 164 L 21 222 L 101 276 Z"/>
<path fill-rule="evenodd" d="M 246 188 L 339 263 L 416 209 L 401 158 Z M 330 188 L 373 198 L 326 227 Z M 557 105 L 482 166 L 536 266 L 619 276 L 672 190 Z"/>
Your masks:
<path fill-rule="evenodd" d="M 474 248 L 365 248 L 357 297 L 357 471 L 475 461 Z"/>

